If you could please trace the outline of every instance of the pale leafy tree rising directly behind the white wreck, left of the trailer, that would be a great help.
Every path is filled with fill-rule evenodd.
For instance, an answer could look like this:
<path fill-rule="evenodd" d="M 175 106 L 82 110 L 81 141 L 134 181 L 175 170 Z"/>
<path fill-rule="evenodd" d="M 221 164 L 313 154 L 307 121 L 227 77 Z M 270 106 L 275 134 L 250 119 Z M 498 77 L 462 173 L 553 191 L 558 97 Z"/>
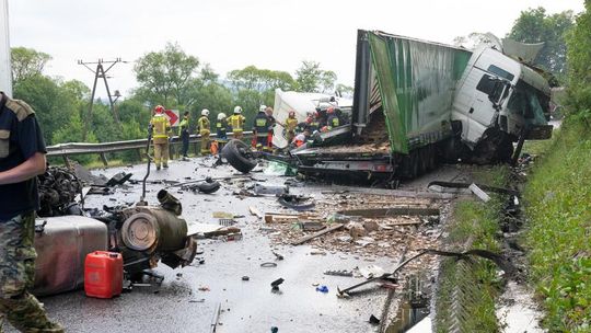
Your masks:
<path fill-rule="evenodd" d="M 303 92 L 333 92 L 337 76 L 334 71 L 322 70 L 320 62 L 303 60 L 296 71 L 298 88 Z"/>

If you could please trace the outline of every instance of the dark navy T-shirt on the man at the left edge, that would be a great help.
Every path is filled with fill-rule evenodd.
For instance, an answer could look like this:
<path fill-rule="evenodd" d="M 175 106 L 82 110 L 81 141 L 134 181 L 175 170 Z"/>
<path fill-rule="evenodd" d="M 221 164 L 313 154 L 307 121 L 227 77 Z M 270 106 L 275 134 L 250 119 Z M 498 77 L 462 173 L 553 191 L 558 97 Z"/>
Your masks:
<path fill-rule="evenodd" d="M 10 170 L 36 152 L 47 152 L 34 113 L 21 101 L 0 92 L 0 172 Z M 37 177 L 0 185 L 0 222 L 39 208 Z"/>

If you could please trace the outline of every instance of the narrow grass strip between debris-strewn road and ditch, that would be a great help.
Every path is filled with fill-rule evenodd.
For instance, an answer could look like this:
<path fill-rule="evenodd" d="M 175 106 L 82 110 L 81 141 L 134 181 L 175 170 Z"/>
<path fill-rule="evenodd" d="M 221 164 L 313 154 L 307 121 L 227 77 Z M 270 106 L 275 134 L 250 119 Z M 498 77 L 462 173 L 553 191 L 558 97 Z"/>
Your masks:
<path fill-rule="evenodd" d="M 509 179 L 507 166 L 494 166 L 474 175 L 483 184 L 505 186 Z M 500 252 L 499 219 L 502 198 L 493 196 L 489 203 L 479 199 L 456 202 L 449 226 L 448 241 L 459 250 L 485 249 Z M 495 298 L 501 284 L 497 267 L 490 261 L 444 260 L 441 265 L 440 288 L 437 300 L 438 332 L 448 332 L 460 325 L 462 332 L 498 332 Z"/>

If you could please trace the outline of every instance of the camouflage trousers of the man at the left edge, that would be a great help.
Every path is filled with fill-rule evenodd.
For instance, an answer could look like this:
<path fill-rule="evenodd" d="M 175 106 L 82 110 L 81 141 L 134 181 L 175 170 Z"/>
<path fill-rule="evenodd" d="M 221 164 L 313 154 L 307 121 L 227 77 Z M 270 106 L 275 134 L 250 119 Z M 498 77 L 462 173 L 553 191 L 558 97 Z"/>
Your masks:
<path fill-rule="evenodd" d="M 0 332 L 5 318 L 21 332 L 63 332 L 28 294 L 35 282 L 35 214 L 0 221 Z"/>

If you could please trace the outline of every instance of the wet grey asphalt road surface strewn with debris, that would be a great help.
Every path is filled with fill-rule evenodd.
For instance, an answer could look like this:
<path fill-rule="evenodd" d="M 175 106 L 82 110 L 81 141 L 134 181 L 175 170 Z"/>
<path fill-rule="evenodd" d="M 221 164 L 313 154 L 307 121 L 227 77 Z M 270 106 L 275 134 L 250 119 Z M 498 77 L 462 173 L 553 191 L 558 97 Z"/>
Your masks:
<path fill-rule="evenodd" d="M 152 170 L 150 180 L 199 179 L 207 175 L 227 176 L 235 172 L 230 166 L 207 168 L 212 159 L 176 161 L 169 170 Z M 119 171 L 134 173 L 141 179 L 144 165 L 99 170 L 111 176 Z M 285 177 L 255 173 L 264 183 L 282 184 Z M 148 185 L 147 199 L 157 205 L 155 194 L 162 185 Z M 329 187 L 329 186 L 327 186 Z M 300 187 L 292 192 L 305 192 L 321 197 L 327 187 L 315 186 L 313 193 Z M 306 245 L 275 248 L 285 256 L 275 261 L 274 245 L 260 230 L 258 221 L 248 213 L 248 206 L 260 211 L 277 210 L 273 197 L 246 197 L 232 195 L 232 186 L 224 184 L 215 194 L 194 194 L 171 191 L 184 205 L 187 221 L 218 223 L 213 211 L 244 215 L 239 219 L 244 238 L 240 241 L 200 240 L 198 249 L 204 253 L 204 264 L 195 261 L 184 268 L 171 269 L 160 264 L 155 272 L 165 276 L 161 286 L 135 287 L 129 294 L 114 299 L 86 298 L 82 290 L 45 297 L 42 301 L 49 315 L 61 322 L 68 332 L 210 332 L 218 305 L 221 306 L 216 332 L 374 332 L 368 320 L 379 317 L 386 291 L 370 288 L 368 292 L 350 299 L 336 297 L 337 287 L 347 287 L 361 278 L 327 276 L 326 269 L 354 269 L 380 265 L 386 271 L 395 266 L 395 260 L 359 257 L 347 253 L 312 255 Z M 91 195 L 86 208 L 103 205 L 132 204 L 139 199 L 141 185 L 117 188 L 111 196 Z M 260 267 L 263 262 L 275 262 L 276 267 Z M 250 280 L 242 280 L 248 276 Z M 279 292 L 273 292 L 270 283 L 283 278 Z M 315 284 L 327 286 L 328 292 L 316 291 Z M 199 290 L 207 288 L 208 291 Z M 11 332 L 9 330 L 9 332 Z"/>

